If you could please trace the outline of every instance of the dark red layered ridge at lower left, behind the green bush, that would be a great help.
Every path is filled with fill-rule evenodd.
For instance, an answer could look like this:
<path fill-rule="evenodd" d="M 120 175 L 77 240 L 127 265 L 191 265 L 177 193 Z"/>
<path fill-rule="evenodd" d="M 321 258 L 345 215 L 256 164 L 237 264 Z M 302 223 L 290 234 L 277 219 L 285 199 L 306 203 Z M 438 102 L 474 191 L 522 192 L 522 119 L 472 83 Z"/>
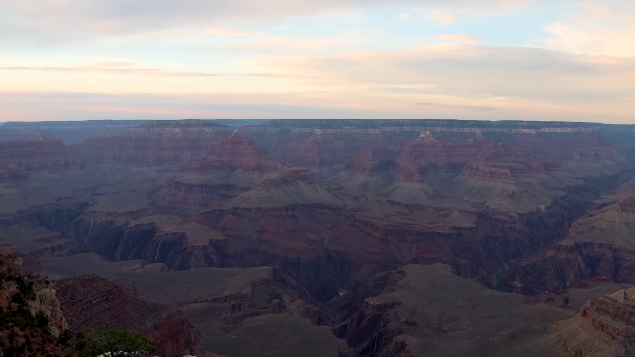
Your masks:
<path fill-rule="evenodd" d="M 200 333 L 180 310 L 137 300 L 96 275 L 61 280 L 55 288 L 71 330 L 123 327 L 153 340 L 161 357 L 203 351 Z"/>

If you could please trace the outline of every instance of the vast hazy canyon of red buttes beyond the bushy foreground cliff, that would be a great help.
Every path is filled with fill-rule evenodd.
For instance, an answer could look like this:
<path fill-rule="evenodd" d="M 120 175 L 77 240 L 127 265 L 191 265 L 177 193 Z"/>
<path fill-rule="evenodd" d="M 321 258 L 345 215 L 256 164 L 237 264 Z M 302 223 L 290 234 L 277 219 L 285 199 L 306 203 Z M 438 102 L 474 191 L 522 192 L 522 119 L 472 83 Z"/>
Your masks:
<path fill-rule="evenodd" d="M 635 125 L 6 123 L 0 247 L 161 357 L 631 356 Z"/>

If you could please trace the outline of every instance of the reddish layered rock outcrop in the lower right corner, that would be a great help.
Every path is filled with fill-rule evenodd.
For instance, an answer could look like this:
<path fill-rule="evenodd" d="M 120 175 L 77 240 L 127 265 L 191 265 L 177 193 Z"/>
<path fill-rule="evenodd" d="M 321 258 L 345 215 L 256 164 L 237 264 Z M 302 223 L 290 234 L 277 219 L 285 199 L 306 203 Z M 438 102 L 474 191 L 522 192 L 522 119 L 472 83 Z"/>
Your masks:
<path fill-rule="evenodd" d="M 589 300 L 580 315 L 614 339 L 635 341 L 635 288 Z"/>

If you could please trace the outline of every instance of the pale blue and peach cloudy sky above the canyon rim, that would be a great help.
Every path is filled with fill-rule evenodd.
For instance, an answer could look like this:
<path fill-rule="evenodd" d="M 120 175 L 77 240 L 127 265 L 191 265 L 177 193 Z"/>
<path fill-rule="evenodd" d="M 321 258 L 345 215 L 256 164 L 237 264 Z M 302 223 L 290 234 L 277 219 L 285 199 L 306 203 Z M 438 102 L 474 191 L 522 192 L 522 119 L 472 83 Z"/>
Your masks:
<path fill-rule="evenodd" d="M 635 0 L 0 0 L 0 122 L 635 123 Z"/>

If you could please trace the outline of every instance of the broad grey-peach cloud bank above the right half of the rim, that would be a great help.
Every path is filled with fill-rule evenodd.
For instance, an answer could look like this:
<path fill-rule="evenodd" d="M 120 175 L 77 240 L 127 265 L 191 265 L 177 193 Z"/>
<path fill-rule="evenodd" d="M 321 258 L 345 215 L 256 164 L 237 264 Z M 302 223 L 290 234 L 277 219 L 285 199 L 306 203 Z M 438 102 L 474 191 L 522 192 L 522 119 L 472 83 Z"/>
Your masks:
<path fill-rule="evenodd" d="M 622 99 L 635 93 L 635 59 L 629 58 L 539 48 L 429 44 L 262 62 L 258 69 L 284 69 L 290 76 L 302 73 L 307 79 L 298 84 L 314 91 L 363 96 L 369 105 L 401 103 L 402 111 L 412 103 L 437 103 L 444 105 L 430 109 L 497 108 L 514 113 L 509 119 L 574 121 L 624 120 L 635 111 L 634 103 Z M 417 89 L 421 83 L 429 87 Z"/>

